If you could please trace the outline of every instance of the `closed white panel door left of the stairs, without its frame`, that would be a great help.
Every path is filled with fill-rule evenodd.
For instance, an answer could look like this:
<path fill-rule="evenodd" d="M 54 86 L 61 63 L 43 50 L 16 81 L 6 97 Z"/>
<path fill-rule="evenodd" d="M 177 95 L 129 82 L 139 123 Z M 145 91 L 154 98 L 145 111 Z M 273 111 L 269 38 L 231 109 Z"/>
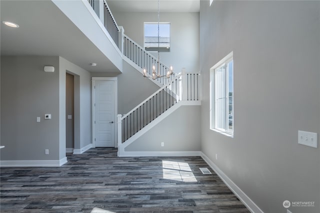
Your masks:
<path fill-rule="evenodd" d="M 114 147 L 114 81 L 95 81 L 95 146 Z"/>

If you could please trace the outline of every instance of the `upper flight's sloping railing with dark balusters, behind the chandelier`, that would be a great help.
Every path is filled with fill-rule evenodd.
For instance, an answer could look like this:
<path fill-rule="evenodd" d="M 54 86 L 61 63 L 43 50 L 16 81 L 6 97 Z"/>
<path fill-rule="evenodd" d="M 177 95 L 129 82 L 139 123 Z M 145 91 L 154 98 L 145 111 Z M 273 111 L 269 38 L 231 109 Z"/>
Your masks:
<path fill-rule="evenodd" d="M 149 76 L 152 74 L 152 64 L 154 64 L 155 67 L 160 68 L 160 70 L 158 70 L 159 75 L 165 75 L 167 71 L 170 70 L 169 67 L 164 65 L 161 61 L 157 61 L 156 57 L 154 57 L 150 52 L 144 50 L 143 47 L 125 34 L 123 34 L 123 54 L 141 68 L 141 73 L 142 69 L 145 68 L 146 73 Z M 160 63 L 159 66 L 158 63 Z M 155 80 L 165 85 L 175 78 L 175 76 L 176 73 L 173 73 L 168 78 L 157 78 Z"/>

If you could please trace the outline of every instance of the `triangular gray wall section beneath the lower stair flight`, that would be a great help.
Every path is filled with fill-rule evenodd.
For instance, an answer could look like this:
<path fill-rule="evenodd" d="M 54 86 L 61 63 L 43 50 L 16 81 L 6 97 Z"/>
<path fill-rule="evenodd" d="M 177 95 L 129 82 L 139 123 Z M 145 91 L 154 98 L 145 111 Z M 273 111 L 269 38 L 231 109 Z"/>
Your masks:
<path fill-rule="evenodd" d="M 199 151 L 201 149 L 199 117 L 200 106 L 180 106 L 124 150 Z M 161 142 L 164 142 L 164 146 L 161 146 Z"/>

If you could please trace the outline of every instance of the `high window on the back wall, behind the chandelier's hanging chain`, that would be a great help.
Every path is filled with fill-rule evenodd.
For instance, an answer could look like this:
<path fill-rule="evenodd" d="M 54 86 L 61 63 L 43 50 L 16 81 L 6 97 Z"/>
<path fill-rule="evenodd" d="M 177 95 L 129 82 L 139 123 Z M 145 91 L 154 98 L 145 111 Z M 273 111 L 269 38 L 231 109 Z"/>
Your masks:
<path fill-rule="evenodd" d="M 144 48 L 147 51 L 169 51 L 170 49 L 170 23 L 144 22 Z M 159 48 L 158 48 L 159 47 Z"/>

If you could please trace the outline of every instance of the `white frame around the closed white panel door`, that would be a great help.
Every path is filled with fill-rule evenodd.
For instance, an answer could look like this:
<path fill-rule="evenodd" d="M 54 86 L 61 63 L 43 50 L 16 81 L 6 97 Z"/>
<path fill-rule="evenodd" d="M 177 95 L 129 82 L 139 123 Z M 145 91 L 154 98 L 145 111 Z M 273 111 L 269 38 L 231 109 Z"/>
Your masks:
<path fill-rule="evenodd" d="M 94 125 L 94 118 L 95 118 L 95 81 L 113 81 L 113 86 L 114 86 L 114 147 L 118 146 L 118 143 L 116 141 L 118 141 L 117 138 L 117 125 L 116 125 L 116 121 L 117 121 L 117 111 L 118 111 L 118 106 L 117 106 L 117 102 L 118 102 L 118 92 L 117 92 L 117 77 L 92 77 L 92 88 L 91 88 L 91 107 L 92 107 L 92 147 L 95 147 L 95 125 Z"/>

